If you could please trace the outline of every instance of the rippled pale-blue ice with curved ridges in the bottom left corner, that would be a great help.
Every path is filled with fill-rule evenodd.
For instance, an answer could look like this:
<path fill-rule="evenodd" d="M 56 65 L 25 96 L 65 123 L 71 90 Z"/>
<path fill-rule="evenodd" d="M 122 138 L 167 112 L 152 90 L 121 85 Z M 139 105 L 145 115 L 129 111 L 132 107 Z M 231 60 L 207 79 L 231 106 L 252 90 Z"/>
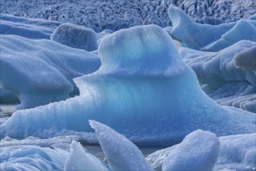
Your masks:
<path fill-rule="evenodd" d="M 68 152 L 37 145 L 1 147 L 0 168 L 4 170 L 63 170 Z"/>

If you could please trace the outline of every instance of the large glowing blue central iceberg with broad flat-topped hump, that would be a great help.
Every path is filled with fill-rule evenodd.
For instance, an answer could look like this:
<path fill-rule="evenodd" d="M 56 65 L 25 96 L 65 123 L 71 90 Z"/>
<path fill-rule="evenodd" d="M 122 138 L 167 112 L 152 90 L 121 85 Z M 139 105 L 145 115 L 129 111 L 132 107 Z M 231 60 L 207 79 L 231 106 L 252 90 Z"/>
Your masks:
<path fill-rule="evenodd" d="M 255 114 L 219 106 L 200 88 L 159 26 L 135 26 L 100 42 L 102 65 L 75 79 L 80 96 L 18 110 L 0 125 L 1 138 L 53 137 L 93 131 L 98 120 L 137 145 L 170 145 L 197 130 L 220 135 L 254 132 Z"/>

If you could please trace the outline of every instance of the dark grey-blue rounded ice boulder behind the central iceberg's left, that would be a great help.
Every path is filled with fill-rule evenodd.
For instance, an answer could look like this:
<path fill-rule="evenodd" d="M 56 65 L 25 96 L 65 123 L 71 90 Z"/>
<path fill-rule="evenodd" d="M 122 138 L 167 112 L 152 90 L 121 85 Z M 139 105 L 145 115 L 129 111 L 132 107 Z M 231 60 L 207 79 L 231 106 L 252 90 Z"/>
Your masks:
<path fill-rule="evenodd" d="M 58 26 L 52 33 L 51 40 L 86 51 L 95 51 L 98 47 L 97 36 L 92 29 L 70 23 Z"/>

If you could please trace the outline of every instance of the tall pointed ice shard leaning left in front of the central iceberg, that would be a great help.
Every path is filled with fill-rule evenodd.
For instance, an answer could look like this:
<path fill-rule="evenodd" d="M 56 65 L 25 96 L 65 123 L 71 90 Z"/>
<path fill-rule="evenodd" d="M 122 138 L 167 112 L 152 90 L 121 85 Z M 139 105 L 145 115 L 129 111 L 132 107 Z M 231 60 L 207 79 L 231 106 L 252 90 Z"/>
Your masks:
<path fill-rule="evenodd" d="M 104 124 L 90 120 L 112 170 L 152 170 L 139 148 Z"/>

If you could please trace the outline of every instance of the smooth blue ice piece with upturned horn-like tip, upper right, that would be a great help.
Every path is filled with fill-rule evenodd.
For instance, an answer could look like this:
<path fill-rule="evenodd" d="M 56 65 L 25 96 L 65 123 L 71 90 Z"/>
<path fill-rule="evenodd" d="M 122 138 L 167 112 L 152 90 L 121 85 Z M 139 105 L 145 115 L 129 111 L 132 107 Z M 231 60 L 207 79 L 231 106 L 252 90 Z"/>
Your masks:
<path fill-rule="evenodd" d="M 173 23 L 171 36 L 184 42 L 186 47 L 200 50 L 202 47 L 219 40 L 219 38 L 230 30 L 236 23 L 224 23 L 218 26 L 195 23 L 188 18 L 187 14 L 180 8 L 170 5 L 168 13 Z"/>

